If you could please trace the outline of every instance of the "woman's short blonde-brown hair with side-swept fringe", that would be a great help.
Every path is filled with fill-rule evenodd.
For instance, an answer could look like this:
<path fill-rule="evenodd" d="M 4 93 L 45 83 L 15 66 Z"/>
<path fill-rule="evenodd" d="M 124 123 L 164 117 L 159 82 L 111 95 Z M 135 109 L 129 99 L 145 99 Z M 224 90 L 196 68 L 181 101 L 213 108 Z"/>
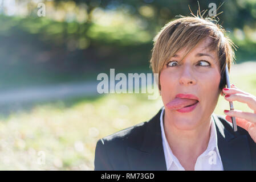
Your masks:
<path fill-rule="evenodd" d="M 186 48 L 185 57 L 201 40 L 210 37 L 212 42 L 209 44 L 209 49 L 210 51 L 214 49 L 217 51 L 220 61 L 221 81 L 219 89 L 225 88 L 225 67 L 227 64 L 230 71 L 231 64 L 235 60 L 233 50 L 235 44 L 225 36 L 224 28 L 213 23 L 214 21 L 217 22 L 212 18 L 181 16 L 181 18 L 165 24 L 153 39 L 154 47 L 150 60 L 153 73 L 158 73 L 160 78 L 162 68 L 177 51 Z M 160 81 L 158 80 L 158 82 L 161 90 Z"/>

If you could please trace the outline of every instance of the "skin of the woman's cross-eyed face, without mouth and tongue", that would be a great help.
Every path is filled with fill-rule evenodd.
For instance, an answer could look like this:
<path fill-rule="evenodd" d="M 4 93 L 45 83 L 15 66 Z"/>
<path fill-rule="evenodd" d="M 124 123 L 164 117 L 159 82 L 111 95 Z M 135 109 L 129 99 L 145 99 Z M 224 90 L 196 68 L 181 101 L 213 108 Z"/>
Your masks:
<path fill-rule="evenodd" d="M 221 80 L 217 51 L 209 51 L 211 39 L 202 40 L 183 60 L 185 49 L 170 57 L 169 63 L 160 73 L 162 102 L 168 121 L 181 130 L 192 130 L 206 121 L 210 121 L 218 97 Z M 177 94 L 193 94 L 199 100 L 192 111 L 182 112 L 170 109 L 168 104 L 176 101 Z M 185 101 L 181 99 L 181 101 Z M 178 99 L 177 102 L 180 102 Z M 174 103 L 177 103 L 174 102 Z M 181 102 L 180 102 L 181 103 Z M 189 102 L 188 102 L 189 103 Z M 182 109 L 184 110 L 184 109 Z"/>

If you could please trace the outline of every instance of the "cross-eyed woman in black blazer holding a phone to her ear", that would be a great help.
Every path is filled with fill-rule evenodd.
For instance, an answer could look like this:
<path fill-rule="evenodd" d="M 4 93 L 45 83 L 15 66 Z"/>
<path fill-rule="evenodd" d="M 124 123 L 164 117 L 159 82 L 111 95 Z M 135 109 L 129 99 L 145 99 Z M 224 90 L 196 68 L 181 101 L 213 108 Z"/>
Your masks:
<path fill-rule="evenodd" d="M 256 97 L 234 85 L 225 88 L 234 45 L 224 32 L 197 16 L 162 28 L 151 67 L 159 74 L 164 107 L 150 121 L 100 139 L 95 170 L 256 170 Z M 220 94 L 254 113 L 214 114 Z"/>

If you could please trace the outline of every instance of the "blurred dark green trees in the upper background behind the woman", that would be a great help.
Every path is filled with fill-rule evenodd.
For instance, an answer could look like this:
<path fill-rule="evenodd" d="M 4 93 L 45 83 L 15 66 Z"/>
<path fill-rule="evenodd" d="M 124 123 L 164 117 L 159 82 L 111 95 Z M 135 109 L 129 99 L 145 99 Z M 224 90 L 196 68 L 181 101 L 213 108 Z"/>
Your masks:
<path fill-rule="evenodd" d="M 37 16 L 38 2 L 46 4 L 46 17 Z M 239 46 L 237 63 L 256 57 L 256 1 L 198 2 L 201 11 L 209 11 L 210 3 L 218 7 L 224 2 L 217 11 L 224 11 L 219 23 Z M 0 0 L 0 76 L 19 78 L 20 68 L 25 75 L 44 69 L 55 78 L 58 73 L 80 76 L 113 67 L 148 68 L 156 33 L 176 15 L 190 15 L 189 6 L 197 14 L 198 2 Z"/>

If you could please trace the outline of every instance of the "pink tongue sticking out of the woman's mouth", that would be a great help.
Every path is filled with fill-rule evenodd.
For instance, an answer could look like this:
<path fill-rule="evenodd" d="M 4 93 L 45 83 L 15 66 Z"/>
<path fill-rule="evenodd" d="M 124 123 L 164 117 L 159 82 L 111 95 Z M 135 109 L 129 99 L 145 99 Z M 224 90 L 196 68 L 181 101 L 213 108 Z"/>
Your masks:
<path fill-rule="evenodd" d="M 189 98 L 174 98 L 174 100 L 166 104 L 166 107 L 168 109 L 177 110 L 189 105 L 196 104 L 196 102 L 198 101 L 194 99 L 189 99 Z"/>

